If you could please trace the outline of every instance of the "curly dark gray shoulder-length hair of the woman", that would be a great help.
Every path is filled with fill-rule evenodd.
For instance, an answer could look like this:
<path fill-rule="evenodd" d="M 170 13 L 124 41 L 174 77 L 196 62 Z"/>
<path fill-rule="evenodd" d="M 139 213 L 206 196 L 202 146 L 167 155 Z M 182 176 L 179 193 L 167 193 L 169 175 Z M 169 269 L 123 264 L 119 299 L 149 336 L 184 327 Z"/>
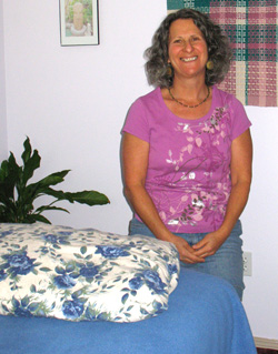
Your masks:
<path fill-rule="evenodd" d="M 229 71 L 232 58 L 229 39 L 207 14 L 192 9 L 181 9 L 168 14 L 156 31 L 151 47 L 145 51 L 145 58 L 147 59 L 145 69 L 148 82 L 160 88 L 172 85 L 173 71 L 169 77 L 168 68 L 168 41 L 170 26 L 179 19 L 192 19 L 205 37 L 208 57 L 214 63 L 212 70 L 206 70 L 206 84 L 210 87 L 220 83 Z"/>

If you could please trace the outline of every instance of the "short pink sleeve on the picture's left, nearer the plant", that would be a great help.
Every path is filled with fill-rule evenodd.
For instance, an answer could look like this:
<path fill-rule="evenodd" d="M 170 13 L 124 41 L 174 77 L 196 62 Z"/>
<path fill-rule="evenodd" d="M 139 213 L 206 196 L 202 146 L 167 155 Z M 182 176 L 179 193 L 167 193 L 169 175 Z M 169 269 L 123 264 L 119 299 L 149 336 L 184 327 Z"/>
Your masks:
<path fill-rule="evenodd" d="M 147 110 L 141 99 L 132 103 L 129 109 L 122 132 L 130 133 L 143 141 L 150 141 L 150 129 L 146 114 Z"/>

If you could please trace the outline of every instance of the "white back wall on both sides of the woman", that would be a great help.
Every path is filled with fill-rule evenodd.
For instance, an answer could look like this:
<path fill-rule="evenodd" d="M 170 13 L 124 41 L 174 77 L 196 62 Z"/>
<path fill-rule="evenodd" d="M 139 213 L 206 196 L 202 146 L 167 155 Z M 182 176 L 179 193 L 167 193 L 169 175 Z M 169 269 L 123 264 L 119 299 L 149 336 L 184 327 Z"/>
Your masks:
<path fill-rule="evenodd" d="M 100 45 L 70 48 L 60 47 L 58 3 L 3 2 L 8 148 L 20 158 L 29 135 L 42 156 L 36 178 L 71 169 L 59 188 L 96 189 L 111 200 L 93 208 L 64 204 L 71 214 L 49 214 L 54 224 L 125 234 L 131 212 L 122 196 L 120 130 L 131 102 L 151 90 L 142 52 L 167 1 L 100 0 Z M 254 275 L 246 279 L 244 304 L 254 335 L 278 340 L 278 108 L 247 112 L 254 122 L 255 178 L 242 221 Z"/>

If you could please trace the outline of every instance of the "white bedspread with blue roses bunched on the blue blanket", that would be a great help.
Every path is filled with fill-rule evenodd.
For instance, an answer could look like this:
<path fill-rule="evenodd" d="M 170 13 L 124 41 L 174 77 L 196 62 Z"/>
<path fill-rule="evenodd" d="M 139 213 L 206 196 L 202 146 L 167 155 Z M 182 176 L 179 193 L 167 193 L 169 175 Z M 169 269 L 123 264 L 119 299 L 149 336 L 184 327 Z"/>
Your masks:
<path fill-rule="evenodd" d="M 179 257 L 168 242 L 93 229 L 0 224 L 0 314 L 136 322 L 168 309 Z"/>

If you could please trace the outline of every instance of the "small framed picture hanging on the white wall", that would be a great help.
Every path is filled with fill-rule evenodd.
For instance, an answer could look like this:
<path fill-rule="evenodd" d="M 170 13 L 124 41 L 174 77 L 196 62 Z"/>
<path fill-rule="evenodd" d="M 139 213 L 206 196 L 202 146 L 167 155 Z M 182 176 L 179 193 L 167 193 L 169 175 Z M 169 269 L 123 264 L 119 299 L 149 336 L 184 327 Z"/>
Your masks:
<path fill-rule="evenodd" d="M 99 44 L 98 0 L 60 0 L 61 45 Z"/>

